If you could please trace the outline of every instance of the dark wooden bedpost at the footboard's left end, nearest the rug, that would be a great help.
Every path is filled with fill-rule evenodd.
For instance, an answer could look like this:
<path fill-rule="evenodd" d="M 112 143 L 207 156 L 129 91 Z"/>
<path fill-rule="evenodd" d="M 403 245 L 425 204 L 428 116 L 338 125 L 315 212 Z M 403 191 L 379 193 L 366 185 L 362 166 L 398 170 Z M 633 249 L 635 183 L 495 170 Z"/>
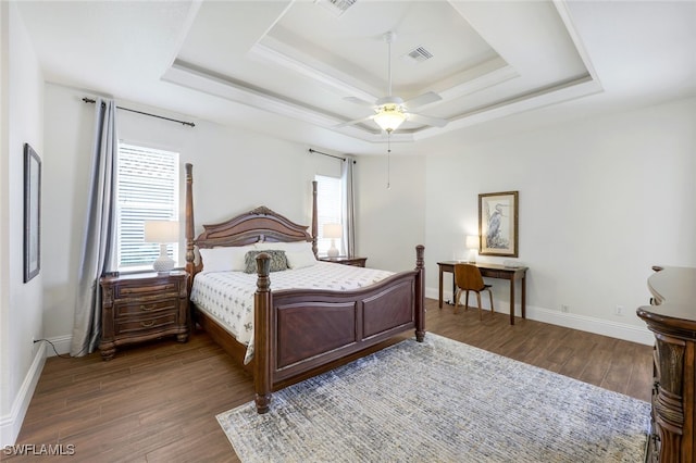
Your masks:
<path fill-rule="evenodd" d="M 257 255 L 257 291 L 253 295 L 253 387 L 258 413 L 265 413 L 271 405 L 271 256 L 265 252 Z"/>

